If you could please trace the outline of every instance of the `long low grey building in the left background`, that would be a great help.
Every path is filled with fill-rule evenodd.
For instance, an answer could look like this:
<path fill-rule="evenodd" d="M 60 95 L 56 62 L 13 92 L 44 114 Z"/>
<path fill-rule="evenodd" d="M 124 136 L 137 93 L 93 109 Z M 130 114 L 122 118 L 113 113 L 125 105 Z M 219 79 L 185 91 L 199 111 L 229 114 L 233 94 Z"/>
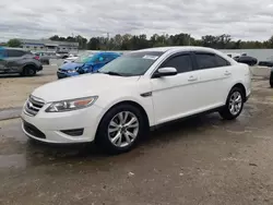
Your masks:
<path fill-rule="evenodd" d="M 54 41 L 49 39 L 19 39 L 22 48 L 31 51 L 68 51 L 78 52 L 79 43 Z"/>

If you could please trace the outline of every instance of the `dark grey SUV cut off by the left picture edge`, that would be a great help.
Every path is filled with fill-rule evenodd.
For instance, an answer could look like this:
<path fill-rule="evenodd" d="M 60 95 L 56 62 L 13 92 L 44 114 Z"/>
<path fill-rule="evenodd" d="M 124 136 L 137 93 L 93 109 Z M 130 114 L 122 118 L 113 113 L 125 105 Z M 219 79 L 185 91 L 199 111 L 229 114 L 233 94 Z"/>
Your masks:
<path fill-rule="evenodd" d="M 0 48 L 0 73 L 20 73 L 23 76 L 33 76 L 41 71 L 41 63 L 35 56 L 22 49 Z"/>

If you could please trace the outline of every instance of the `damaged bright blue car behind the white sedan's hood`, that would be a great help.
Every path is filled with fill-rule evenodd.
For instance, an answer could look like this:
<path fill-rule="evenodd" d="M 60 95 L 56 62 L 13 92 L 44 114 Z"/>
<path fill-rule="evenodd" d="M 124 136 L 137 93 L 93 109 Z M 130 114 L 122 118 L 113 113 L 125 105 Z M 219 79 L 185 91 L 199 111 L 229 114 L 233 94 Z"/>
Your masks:
<path fill-rule="evenodd" d="M 96 72 L 98 69 L 120 57 L 118 52 L 97 52 L 85 58 L 79 58 L 74 62 L 62 64 L 57 71 L 58 79 L 75 76 L 84 73 Z"/>

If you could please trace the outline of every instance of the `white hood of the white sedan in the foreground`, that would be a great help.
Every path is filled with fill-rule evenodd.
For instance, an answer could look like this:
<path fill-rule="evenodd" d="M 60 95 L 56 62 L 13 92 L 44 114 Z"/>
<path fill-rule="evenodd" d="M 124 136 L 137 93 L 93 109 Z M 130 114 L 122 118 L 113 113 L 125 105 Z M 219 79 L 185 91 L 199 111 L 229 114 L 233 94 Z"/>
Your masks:
<path fill-rule="evenodd" d="M 102 73 L 83 74 L 45 84 L 33 92 L 33 96 L 46 101 L 96 96 L 135 83 L 140 77 L 122 77 Z"/>

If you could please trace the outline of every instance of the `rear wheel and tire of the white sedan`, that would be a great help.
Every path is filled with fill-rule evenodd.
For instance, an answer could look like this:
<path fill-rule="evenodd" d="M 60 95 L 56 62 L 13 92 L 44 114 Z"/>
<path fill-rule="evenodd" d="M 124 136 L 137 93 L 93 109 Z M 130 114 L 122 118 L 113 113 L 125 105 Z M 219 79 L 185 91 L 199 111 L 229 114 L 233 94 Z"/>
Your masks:
<path fill-rule="evenodd" d="M 225 120 L 234 120 L 240 116 L 244 108 L 245 94 L 240 87 L 234 87 L 227 97 L 225 107 L 219 114 Z"/>

